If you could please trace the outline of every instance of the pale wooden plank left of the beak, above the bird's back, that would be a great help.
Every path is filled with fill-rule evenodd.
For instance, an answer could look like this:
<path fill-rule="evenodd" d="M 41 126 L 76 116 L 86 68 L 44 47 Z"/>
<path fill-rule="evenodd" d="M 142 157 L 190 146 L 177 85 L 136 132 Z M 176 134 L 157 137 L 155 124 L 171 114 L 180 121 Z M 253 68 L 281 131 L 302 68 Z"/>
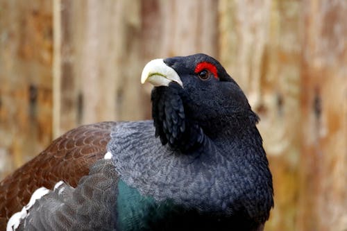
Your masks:
<path fill-rule="evenodd" d="M 62 1 L 62 18 L 61 130 L 143 118 L 139 1 Z"/>

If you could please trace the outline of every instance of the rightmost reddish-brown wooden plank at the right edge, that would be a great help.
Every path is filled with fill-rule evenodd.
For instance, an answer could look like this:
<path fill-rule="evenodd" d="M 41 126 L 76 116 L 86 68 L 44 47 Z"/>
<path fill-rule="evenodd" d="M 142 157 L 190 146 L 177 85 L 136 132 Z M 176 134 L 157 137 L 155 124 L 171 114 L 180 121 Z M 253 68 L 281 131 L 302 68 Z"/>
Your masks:
<path fill-rule="evenodd" d="M 347 228 L 347 4 L 305 1 L 297 230 Z"/>

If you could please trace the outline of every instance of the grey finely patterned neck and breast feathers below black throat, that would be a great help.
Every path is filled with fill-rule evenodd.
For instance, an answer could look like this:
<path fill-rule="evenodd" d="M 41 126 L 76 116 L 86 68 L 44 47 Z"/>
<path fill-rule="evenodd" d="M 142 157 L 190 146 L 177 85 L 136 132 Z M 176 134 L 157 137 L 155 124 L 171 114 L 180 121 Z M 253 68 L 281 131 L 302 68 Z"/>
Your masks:
<path fill-rule="evenodd" d="M 154 134 L 153 121 L 121 123 L 112 131 L 108 151 L 124 182 L 144 196 L 201 210 L 225 211 L 237 200 L 238 176 L 231 176 L 236 163 L 219 148 L 208 143 L 196 155 L 183 155 Z"/>

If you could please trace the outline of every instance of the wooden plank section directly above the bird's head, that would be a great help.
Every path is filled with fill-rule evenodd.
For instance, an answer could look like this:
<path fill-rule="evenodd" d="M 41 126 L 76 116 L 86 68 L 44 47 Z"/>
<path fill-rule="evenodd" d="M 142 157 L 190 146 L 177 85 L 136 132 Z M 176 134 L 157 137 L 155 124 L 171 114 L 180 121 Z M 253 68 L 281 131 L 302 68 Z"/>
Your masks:
<path fill-rule="evenodd" d="M 218 1 L 211 0 L 143 0 L 144 58 L 193 53 L 217 56 L 217 6 Z"/>

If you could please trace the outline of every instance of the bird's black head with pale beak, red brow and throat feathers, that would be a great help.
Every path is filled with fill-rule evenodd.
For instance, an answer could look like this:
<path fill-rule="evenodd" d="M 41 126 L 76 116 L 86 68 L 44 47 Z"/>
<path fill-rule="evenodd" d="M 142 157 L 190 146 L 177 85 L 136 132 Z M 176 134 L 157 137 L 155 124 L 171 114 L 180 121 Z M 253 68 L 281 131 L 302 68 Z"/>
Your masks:
<path fill-rule="evenodd" d="M 242 89 L 209 55 L 152 60 L 144 67 L 141 80 L 155 86 L 152 114 L 162 144 L 180 147 L 199 132 L 214 137 L 257 122 Z"/>

